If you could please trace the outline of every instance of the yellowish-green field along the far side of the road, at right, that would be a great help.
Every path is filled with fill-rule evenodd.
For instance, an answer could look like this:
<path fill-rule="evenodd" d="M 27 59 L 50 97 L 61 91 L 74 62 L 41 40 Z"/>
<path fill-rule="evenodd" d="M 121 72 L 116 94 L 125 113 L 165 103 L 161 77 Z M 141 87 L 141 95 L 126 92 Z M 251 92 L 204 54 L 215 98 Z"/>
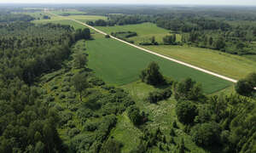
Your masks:
<path fill-rule="evenodd" d="M 164 45 L 143 46 L 143 48 L 235 79 L 241 79 L 248 73 L 256 71 L 256 62 L 250 59 L 211 49 Z"/>

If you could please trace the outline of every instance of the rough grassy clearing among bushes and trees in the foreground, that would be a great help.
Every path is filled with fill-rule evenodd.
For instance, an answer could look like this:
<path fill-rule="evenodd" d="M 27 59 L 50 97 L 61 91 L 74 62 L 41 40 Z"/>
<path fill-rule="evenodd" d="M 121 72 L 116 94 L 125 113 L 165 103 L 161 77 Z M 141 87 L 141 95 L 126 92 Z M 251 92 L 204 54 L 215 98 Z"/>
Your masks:
<path fill-rule="evenodd" d="M 163 100 L 158 102 L 157 105 L 155 104 L 149 104 L 144 99 L 148 96 L 148 93 L 155 88 L 152 86 L 149 86 L 143 82 L 132 82 L 130 84 L 127 84 L 125 86 L 122 86 L 121 88 L 124 88 L 126 91 L 128 91 L 131 94 L 131 97 L 136 100 L 137 107 L 140 108 L 141 111 L 144 111 L 145 113 L 148 113 L 149 122 L 145 124 L 145 127 L 150 130 L 155 130 L 158 127 L 160 127 L 160 130 L 165 133 L 167 142 L 170 137 L 170 127 L 172 127 L 172 122 L 177 121 L 177 116 L 175 113 L 175 105 L 176 100 L 171 98 L 168 100 Z M 130 125 L 131 126 L 131 125 Z M 183 125 L 177 121 L 177 126 L 179 128 L 175 128 L 175 133 L 177 134 L 175 137 L 173 137 L 176 144 L 179 143 L 180 139 L 183 138 L 185 141 L 185 147 L 188 150 L 193 150 L 194 152 L 198 153 L 204 153 L 207 152 L 206 150 L 201 149 L 198 147 L 190 138 L 190 136 L 186 133 L 183 133 Z M 134 131 L 135 132 L 135 131 Z M 139 134 L 138 134 L 139 135 Z M 126 145 L 127 142 L 125 142 Z M 131 143 L 131 142 L 129 142 Z M 137 145 L 135 142 L 133 145 Z M 174 144 L 171 145 L 171 150 L 175 150 L 176 146 Z M 126 152 L 124 150 L 124 152 Z M 160 150 L 155 147 L 153 149 L 153 152 L 160 152 Z"/>

